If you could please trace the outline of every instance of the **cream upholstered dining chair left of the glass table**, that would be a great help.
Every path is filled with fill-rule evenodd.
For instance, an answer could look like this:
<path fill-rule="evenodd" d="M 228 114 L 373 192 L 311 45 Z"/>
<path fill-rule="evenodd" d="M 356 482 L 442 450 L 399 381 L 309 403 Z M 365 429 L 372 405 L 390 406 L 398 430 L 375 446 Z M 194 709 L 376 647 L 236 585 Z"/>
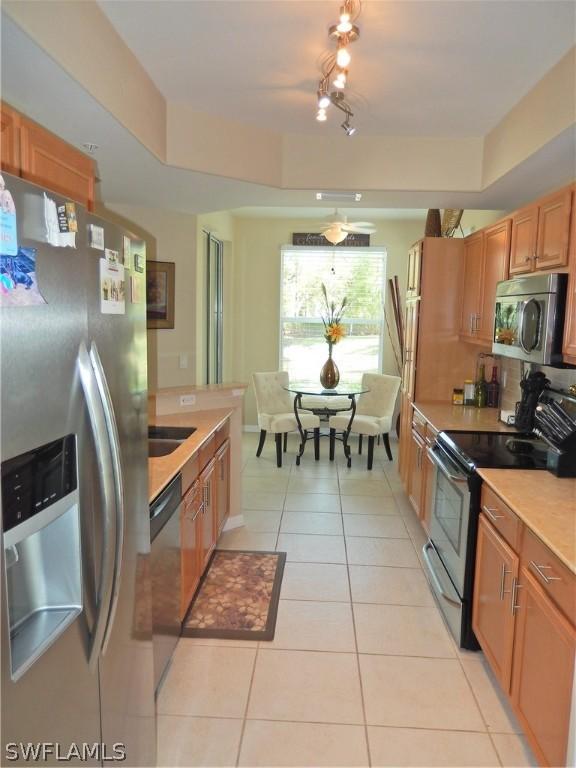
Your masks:
<path fill-rule="evenodd" d="M 288 432 L 298 429 L 296 416 L 294 415 L 294 398 L 284 387 L 289 384 L 286 371 L 270 371 L 265 373 L 253 373 L 254 392 L 256 393 L 256 407 L 258 409 L 258 426 L 260 427 L 260 440 L 256 450 L 256 456 L 260 456 L 266 441 L 266 434 L 272 432 L 276 440 L 276 464 L 282 466 L 282 436 L 284 436 L 284 450 L 286 450 L 286 438 Z M 320 458 L 320 419 L 310 411 L 299 410 L 298 417 L 302 429 L 314 430 L 314 456 Z"/>

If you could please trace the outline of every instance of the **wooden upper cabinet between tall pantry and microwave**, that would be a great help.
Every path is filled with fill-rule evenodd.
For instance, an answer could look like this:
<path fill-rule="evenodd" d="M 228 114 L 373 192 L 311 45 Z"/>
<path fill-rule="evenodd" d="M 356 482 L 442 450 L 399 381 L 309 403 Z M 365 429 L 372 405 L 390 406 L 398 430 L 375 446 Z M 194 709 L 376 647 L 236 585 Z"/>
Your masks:
<path fill-rule="evenodd" d="M 492 343 L 496 286 L 508 276 L 510 219 L 467 237 L 464 241 L 464 279 L 460 337 Z"/>

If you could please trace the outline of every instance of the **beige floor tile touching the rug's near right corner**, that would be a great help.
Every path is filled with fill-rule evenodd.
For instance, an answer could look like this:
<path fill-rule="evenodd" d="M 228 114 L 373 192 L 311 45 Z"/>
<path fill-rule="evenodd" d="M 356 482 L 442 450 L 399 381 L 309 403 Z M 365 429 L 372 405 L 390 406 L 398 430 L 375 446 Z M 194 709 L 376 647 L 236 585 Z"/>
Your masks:
<path fill-rule="evenodd" d="M 274 640 L 261 647 L 354 653 L 350 603 L 280 600 Z"/>

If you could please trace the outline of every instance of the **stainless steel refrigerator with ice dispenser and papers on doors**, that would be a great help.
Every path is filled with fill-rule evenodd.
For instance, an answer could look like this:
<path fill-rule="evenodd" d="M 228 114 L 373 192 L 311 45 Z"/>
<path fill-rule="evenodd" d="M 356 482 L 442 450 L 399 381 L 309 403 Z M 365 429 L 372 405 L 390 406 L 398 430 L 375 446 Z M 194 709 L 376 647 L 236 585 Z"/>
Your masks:
<path fill-rule="evenodd" d="M 155 765 L 145 244 L 3 181 L 0 764 Z"/>

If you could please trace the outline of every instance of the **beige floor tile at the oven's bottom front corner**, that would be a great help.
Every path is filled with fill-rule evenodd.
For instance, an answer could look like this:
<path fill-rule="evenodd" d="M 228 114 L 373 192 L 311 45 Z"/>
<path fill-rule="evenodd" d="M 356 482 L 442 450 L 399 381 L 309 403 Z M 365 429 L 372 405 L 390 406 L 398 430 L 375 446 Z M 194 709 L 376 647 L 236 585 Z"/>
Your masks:
<path fill-rule="evenodd" d="M 398 569 L 400 570 L 400 569 Z M 435 605 L 354 606 L 360 653 L 455 658 L 454 646 Z"/>

